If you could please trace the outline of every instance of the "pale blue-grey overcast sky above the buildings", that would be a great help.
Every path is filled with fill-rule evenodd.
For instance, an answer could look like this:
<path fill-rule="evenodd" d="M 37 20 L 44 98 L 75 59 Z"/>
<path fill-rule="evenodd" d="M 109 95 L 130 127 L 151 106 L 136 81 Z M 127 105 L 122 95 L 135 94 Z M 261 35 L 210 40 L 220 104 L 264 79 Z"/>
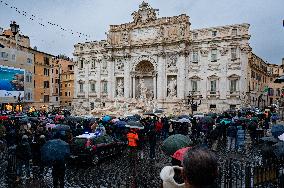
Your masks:
<path fill-rule="evenodd" d="M 30 37 L 32 46 L 37 46 L 38 50 L 53 55 L 66 54 L 70 57 L 74 44 L 86 41 L 76 32 L 91 35 L 89 41 L 105 39 L 109 25 L 132 21 L 131 13 L 137 10 L 142 2 L 142 0 L 1 1 L 0 27 L 7 28 L 10 21 L 15 20 L 20 25 L 21 33 Z M 187 14 L 190 16 L 193 29 L 249 23 L 250 44 L 258 56 L 276 64 L 280 64 L 284 57 L 282 24 L 284 0 L 147 0 L 146 2 L 160 10 L 159 17 Z M 26 13 L 19 14 L 17 10 Z M 60 26 L 69 31 L 63 31 Z"/>

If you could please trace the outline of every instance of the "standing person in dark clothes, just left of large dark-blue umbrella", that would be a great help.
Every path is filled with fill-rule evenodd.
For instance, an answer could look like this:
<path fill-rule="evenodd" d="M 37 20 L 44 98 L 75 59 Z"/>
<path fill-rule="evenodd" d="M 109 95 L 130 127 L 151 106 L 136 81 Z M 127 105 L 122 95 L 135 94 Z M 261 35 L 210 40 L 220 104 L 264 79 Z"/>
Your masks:
<path fill-rule="evenodd" d="M 20 177 L 23 175 L 23 165 L 25 165 L 24 171 L 26 173 L 27 179 L 30 178 L 30 160 L 32 159 L 32 152 L 28 139 L 29 138 L 27 135 L 23 135 L 20 144 L 16 147 L 16 181 L 20 181 Z"/>

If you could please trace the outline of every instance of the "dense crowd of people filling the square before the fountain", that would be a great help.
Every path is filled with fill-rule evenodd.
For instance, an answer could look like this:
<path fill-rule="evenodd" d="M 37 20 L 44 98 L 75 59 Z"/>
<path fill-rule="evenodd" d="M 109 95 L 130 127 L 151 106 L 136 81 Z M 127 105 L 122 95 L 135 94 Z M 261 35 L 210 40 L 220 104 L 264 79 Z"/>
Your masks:
<path fill-rule="evenodd" d="M 69 118 L 70 114 L 56 112 L 56 114 L 37 112 L 29 114 L 34 116 L 29 121 L 22 121 L 19 115 L 10 115 L 8 119 L 2 119 L 0 122 L 0 139 L 5 141 L 8 148 L 15 147 L 15 155 L 17 159 L 17 179 L 20 181 L 23 174 L 30 178 L 31 164 L 39 167 L 39 178 L 43 178 L 46 164 L 41 159 L 41 148 L 52 139 L 62 139 L 72 144 L 75 136 L 85 132 L 95 132 L 97 129 L 103 129 L 106 134 L 111 135 L 114 139 L 119 139 L 128 144 L 130 153 L 137 153 L 139 159 L 149 158 L 155 159 L 157 143 L 165 140 L 174 134 L 183 134 L 188 136 L 193 145 L 201 146 L 201 149 L 191 149 L 182 166 L 185 184 L 201 185 L 204 180 L 200 179 L 200 169 L 207 169 L 209 175 L 214 179 L 216 175 L 215 157 L 211 150 L 217 150 L 220 142 L 226 144 L 226 150 L 242 152 L 245 146 L 245 135 L 248 132 L 251 141 L 257 142 L 258 131 L 269 129 L 270 121 L 275 122 L 271 113 L 256 114 L 251 111 L 233 112 L 223 114 L 211 114 L 205 117 L 190 117 L 188 122 L 179 122 L 174 117 L 158 117 L 158 116 L 135 116 L 135 121 L 139 121 L 143 127 L 128 128 L 116 127 L 113 121 L 104 121 L 102 118 Z M 56 117 L 63 118 L 56 118 Z M 114 119 L 114 118 L 112 118 Z M 116 118 L 117 119 L 117 118 Z M 120 121 L 127 121 L 126 118 L 118 118 Z M 47 124 L 57 123 L 66 124 L 70 129 L 64 131 L 64 134 L 57 134 Z M 149 156 L 144 156 L 143 150 L 150 150 Z M 189 160 L 190 159 L 190 160 Z M 200 161 L 202 159 L 202 161 Z M 196 161 L 194 161 L 196 160 Z M 210 169 L 208 169 L 208 166 Z M 63 165 L 62 165 L 63 164 Z M 53 179 L 54 185 L 61 182 L 64 187 L 65 163 L 53 163 Z M 24 166 L 24 168 L 23 168 Z M 179 168 L 177 168 L 179 169 Z M 191 169 L 191 170 L 189 170 Z M 193 170 L 192 170 L 193 169 Z M 199 170 L 198 170 L 199 169 Z M 172 168 L 166 169 L 172 171 Z M 176 171 L 176 169 L 174 170 Z M 164 178 L 164 171 L 161 177 Z M 167 172 L 171 173 L 171 172 Z M 166 174 L 167 174 L 166 173 Z M 168 174 L 169 175 L 169 174 Z M 162 179 L 163 179 L 162 178 Z M 208 178 L 207 178 L 208 179 Z M 209 180 L 208 180 L 209 182 Z M 197 186 L 199 187 L 199 186 Z"/>

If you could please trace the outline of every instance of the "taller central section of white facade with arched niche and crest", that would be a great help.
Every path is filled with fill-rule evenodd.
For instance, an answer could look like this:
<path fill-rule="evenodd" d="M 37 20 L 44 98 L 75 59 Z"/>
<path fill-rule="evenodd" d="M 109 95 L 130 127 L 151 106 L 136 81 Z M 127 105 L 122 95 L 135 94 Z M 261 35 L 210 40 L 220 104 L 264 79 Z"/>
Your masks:
<path fill-rule="evenodd" d="M 157 18 L 157 11 L 143 2 L 132 13 L 132 22 L 110 26 L 106 45 L 108 63 L 114 65 L 110 100 L 154 101 L 167 108 L 184 100 L 189 17 Z"/>

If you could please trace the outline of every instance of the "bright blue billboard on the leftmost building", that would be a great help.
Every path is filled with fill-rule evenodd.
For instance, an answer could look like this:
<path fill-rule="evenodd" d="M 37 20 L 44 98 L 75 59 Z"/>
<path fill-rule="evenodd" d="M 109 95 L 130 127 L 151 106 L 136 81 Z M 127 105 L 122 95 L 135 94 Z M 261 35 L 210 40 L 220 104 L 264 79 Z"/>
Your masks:
<path fill-rule="evenodd" d="M 22 99 L 24 97 L 24 86 L 24 69 L 0 65 L 0 99 Z M 0 100 L 0 102 L 5 101 Z"/>

